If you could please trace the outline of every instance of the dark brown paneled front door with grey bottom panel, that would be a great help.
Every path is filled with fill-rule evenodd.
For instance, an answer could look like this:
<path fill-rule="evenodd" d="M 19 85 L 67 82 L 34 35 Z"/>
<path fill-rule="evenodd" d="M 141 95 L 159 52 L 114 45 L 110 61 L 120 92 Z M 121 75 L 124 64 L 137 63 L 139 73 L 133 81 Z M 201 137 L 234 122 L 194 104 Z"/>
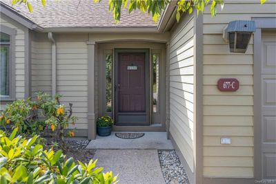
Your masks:
<path fill-rule="evenodd" d="M 118 53 L 116 125 L 146 125 L 146 53 Z"/>

